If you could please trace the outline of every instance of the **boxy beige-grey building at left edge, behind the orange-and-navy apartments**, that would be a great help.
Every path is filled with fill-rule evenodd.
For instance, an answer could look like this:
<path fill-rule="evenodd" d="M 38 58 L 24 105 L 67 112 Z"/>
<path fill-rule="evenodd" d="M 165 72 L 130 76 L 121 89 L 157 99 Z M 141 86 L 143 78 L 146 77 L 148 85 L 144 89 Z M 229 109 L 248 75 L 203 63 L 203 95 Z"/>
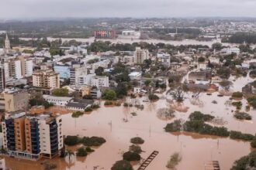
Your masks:
<path fill-rule="evenodd" d="M 29 93 L 26 90 L 7 89 L 4 91 L 6 111 L 26 110 L 29 105 Z"/>

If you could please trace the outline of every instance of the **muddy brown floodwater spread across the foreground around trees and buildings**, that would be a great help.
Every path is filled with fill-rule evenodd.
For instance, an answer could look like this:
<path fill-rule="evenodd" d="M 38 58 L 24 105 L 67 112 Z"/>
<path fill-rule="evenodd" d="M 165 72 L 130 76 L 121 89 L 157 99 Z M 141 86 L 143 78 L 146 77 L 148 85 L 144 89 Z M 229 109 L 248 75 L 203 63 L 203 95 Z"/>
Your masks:
<path fill-rule="evenodd" d="M 237 83 L 244 83 L 247 78 L 237 80 Z M 234 90 L 240 90 L 242 86 L 235 85 Z M 232 110 L 234 107 L 227 104 L 230 97 L 217 97 L 218 93 L 207 96 L 206 93 L 200 94 L 199 105 L 191 103 L 192 94 L 186 95 L 184 105 L 189 107 L 188 112 L 175 112 L 175 119 L 182 118 L 187 120 L 189 114 L 195 110 L 202 111 L 204 114 L 212 114 L 216 117 L 223 118 L 227 121 L 225 127 L 230 130 L 242 131 L 244 133 L 255 134 L 255 117 L 256 111 L 250 110 L 249 114 L 253 117 L 252 121 L 237 121 L 234 119 Z M 160 94 L 162 96 L 163 94 Z M 140 99 L 141 104 L 143 98 Z M 216 100 L 217 104 L 212 101 Z M 245 110 L 246 100 L 243 103 L 242 110 Z M 84 114 L 81 117 L 73 118 L 71 114 L 62 114 L 64 135 L 80 135 L 80 136 L 101 136 L 106 138 L 106 143 L 99 148 L 95 148 L 95 152 L 86 158 L 71 157 L 54 158 L 50 162 L 57 164 L 57 169 L 105 169 L 109 170 L 112 164 L 122 159 L 122 153 L 128 151 L 130 138 L 144 138 L 144 145 L 141 145 L 143 158 L 147 158 L 152 151 L 159 151 L 159 155 L 147 167 L 147 170 L 166 170 L 166 163 L 170 156 L 178 151 L 182 154 L 182 162 L 177 166 L 178 170 L 192 169 L 203 170 L 204 162 L 216 160 L 220 162 L 223 170 L 230 169 L 235 160 L 247 155 L 251 151 L 249 142 L 234 141 L 230 138 L 217 138 L 207 135 L 191 134 L 191 133 L 175 133 L 170 134 L 164 132 L 164 127 L 171 121 L 162 121 L 157 118 L 157 110 L 167 107 L 166 97 L 161 97 L 156 103 L 143 103 L 144 110 L 137 110 L 135 107 L 104 107 L 102 105 L 98 110 L 94 110 L 91 114 Z M 137 116 L 130 113 L 136 112 Z M 123 119 L 127 119 L 124 122 Z M 71 148 L 75 151 L 75 147 Z M 40 161 L 41 162 L 41 161 Z M 5 158 L 7 168 L 13 170 L 34 170 L 43 169 L 40 162 L 21 161 L 15 158 Z M 138 168 L 133 165 L 134 169 Z"/>

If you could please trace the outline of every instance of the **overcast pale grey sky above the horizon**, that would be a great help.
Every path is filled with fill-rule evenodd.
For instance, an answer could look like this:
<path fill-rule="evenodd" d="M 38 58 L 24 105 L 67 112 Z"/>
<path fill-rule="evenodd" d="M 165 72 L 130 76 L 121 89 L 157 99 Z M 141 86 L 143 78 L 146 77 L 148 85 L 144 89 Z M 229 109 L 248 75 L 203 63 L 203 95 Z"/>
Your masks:
<path fill-rule="evenodd" d="M 63 17 L 256 17 L 256 0 L 0 0 L 1 19 Z"/>

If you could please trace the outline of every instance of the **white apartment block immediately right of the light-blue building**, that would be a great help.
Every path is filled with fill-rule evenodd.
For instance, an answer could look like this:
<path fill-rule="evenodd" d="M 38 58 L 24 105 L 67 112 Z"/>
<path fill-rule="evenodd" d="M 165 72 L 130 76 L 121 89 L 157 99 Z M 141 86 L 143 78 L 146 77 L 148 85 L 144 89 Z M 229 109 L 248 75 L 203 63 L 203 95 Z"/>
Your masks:
<path fill-rule="evenodd" d="M 86 66 L 73 66 L 70 71 L 70 84 L 74 86 L 79 86 L 79 79 L 81 76 L 87 75 Z"/>

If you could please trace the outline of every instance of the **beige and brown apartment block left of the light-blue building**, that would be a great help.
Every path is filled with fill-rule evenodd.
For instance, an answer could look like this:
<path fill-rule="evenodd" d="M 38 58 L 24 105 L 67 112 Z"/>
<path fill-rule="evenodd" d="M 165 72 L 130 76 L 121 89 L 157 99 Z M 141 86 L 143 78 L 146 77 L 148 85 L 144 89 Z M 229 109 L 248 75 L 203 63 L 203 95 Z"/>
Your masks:
<path fill-rule="evenodd" d="M 37 70 L 33 72 L 33 86 L 48 89 L 60 88 L 60 74 L 53 70 Z"/>

